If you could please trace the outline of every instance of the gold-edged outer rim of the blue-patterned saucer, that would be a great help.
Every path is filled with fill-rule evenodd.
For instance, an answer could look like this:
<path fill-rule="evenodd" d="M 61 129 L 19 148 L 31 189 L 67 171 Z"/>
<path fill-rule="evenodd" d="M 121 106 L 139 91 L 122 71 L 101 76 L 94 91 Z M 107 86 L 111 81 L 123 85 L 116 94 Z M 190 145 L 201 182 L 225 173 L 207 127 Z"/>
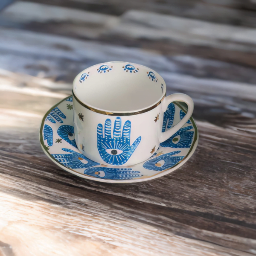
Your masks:
<path fill-rule="evenodd" d="M 62 99 L 60 102 L 58 102 L 57 104 L 55 104 L 54 106 L 52 106 L 44 115 L 42 121 L 41 121 L 41 125 L 40 125 L 40 129 L 39 129 L 39 140 L 40 140 L 40 145 L 41 148 L 43 149 L 44 153 L 47 155 L 47 157 L 52 160 L 52 162 L 54 162 L 57 166 L 59 166 L 61 169 L 72 173 L 73 175 L 79 176 L 81 178 L 84 179 L 88 179 L 88 180 L 95 180 L 95 181 L 99 181 L 102 183 L 137 183 L 137 182 L 144 182 L 144 181 L 148 181 L 148 180 L 153 180 L 156 179 L 158 177 L 162 177 L 164 175 L 167 175 L 175 170 L 177 170 L 178 168 L 180 168 L 181 166 L 183 166 L 183 164 L 185 164 L 190 157 L 192 157 L 192 154 L 194 154 L 195 149 L 197 148 L 198 145 L 198 139 L 199 139 L 199 134 L 198 134 L 198 127 L 196 125 L 195 120 L 193 119 L 193 117 L 191 116 L 189 118 L 189 120 L 191 120 L 193 128 L 195 129 L 195 140 L 193 141 L 191 147 L 189 148 L 189 152 L 186 154 L 186 156 L 180 161 L 178 162 L 175 166 L 170 167 L 169 169 L 163 170 L 161 172 L 158 172 L 154 175 L 148 176 L 148 177 L 140 177 L 140 178 L 135 178 L 135 179 L 131 179 L 131 180 L 109 180 L 109 179 L 101 179 L 101 178 L 97 178 L 97 177 L 91 177 L 89 175 L 86 174 L 82 174 L 80 172 L 75 171 L 74 169 L 71 169 L 69 167 L 63 166 L 61 165 L 54 157 L 52 157 L 52 154 L 49 153 L 49 151 L 46 149 L 46 146 L 44 145 L 44 139 L 43 139 L 43 128 L 44 128 L 44 123 L 45 123 L 45 119 L 47 117 L 47 115 L 52 111 L 53 108 L 57 107 L 58 105 L 61 104 L 61 102 L 64 102 L 66 99 L 70 98 L 71 96 L 73 96 L 72 94 L 70 96 L 65 97 L 64 99 Z M 186 109 L 183 108 L 182 105 L 180 105 L 177 102 L 173 102 L 175 105 L 177 105 L 182 111 L 184 111 L 186 113 Z M 139 164 L 139 163 L 138 163 Z"/>

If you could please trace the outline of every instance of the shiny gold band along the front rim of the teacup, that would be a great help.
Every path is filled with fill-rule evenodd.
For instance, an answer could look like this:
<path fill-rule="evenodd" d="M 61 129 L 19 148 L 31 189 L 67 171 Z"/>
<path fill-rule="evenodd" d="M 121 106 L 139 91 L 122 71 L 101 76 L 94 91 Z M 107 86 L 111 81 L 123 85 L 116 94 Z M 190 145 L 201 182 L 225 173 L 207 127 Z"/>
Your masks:
<path fill-rule="evenodd" d="M 154 106 L 151 106 L 149 108 L 145 108 L 141 111 L 136 111 L 136 112 L 106 112 L 106 111 L 102 111 L 102 110 L 99 110 L 99 109 L 96 109 L 96 108 L 92 108 L 92 107 L 89 107 L 87 105 L 85 105 L 83 102 L 81 102 L 77 96 L 75 95 L 74 91 L 72 90 L 72 94 L 73 94 L 73 97 L 76 99 L 76 101 L 82 105 L 84 108 L 87 108 L 93 112 L 96 112 L 96 113 L 99 113 L 99 114 L 102 114 L 102 115 L 107 115 L 107 116 L 134 116 L 134 115 L 138 115 L 138 114 L 142 114 L 142 113 L 145 113 L 145 112 L 148 112 L 148 111 L 151 111 L 152 109 L 156 108 L 158 105 L 161 104 L 161 102 L 163 101 L 163 99 L 165 98 L 166 94 L 162 97 L 162 99 L 160 99 L 159 102 L 157 102 Z"/>

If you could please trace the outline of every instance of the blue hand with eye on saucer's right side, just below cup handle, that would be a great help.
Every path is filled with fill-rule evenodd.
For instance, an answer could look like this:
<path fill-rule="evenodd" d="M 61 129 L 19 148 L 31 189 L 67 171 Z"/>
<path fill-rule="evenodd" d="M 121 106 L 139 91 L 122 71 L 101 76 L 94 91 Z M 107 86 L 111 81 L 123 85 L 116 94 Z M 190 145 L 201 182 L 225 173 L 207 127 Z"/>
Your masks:
<path fill-rule="evenodd" d="M 190 148 L 194 134 L 194 131 L 189 131 L 191 129 L 193 129 L 192 125 L 181 128 L 168 140 L 160 143 L 160 146 L 165 148 Z"/>

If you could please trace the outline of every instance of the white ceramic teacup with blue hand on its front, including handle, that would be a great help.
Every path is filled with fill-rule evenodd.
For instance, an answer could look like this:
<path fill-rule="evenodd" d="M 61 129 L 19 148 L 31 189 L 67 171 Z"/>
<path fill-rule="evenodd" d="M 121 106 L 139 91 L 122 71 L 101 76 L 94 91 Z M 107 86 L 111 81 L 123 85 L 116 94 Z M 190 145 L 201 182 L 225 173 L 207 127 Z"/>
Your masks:
<path fill-rule="evenodd" d="M 193 101 L 186 94 L 165 95 L 163 78 L 139 64 L 113 61 L 82 71 L 73 82 L 74 132 L 79 150 L 105 165 L 130 166 L 145 161 L 193 112 Z M 174 101 L 185 102 L 188 112 L 162 132 L 164 112 Z"/>

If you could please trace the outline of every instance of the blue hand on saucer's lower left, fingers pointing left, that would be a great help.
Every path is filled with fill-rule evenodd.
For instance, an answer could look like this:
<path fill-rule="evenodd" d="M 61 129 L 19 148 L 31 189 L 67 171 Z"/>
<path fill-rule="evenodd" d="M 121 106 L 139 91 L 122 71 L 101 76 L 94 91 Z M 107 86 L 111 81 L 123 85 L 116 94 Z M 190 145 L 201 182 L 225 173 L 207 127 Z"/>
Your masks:
<path fill-rule="evenodd" d="M 97 166 L 99 163 L 96 163 L 89 158 L 85 157 L 83 154 L 80 154 L 76 151 L 73 151 L 69 148 L 62 148 L 63 151 L 69 152 L 71 154 L 52 154 L 52 156 L 62 165 L 72 168 L 72 169 L 81 169 L 89 168 L 92 166 Z"/>

